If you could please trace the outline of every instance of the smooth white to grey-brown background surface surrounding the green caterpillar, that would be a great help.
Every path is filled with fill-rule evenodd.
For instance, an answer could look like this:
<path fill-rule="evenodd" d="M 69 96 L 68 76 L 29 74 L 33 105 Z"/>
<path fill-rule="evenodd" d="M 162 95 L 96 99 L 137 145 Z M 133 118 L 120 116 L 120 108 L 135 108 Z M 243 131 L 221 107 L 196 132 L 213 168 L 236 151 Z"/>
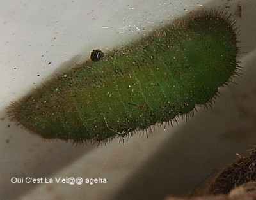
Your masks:
<path fill-rule="evenodd" d="M 241 18 L 234 15 L 241 5 Z M 243 76 L 189 122 L 124 145 L 38 138 L 4 118 L 6 106 L 92 49 L 129 43 L 189 11 L 221 8 L 239 25 Z M 192 190 L 255 145 L 255 9 L 250 1 L 0 1 L 0 199 L 162 199 Z M 51 64 L 50 64 L 51 62 Z M 14 184 L 15 177 L 107 178 L 107 184 Z"/>

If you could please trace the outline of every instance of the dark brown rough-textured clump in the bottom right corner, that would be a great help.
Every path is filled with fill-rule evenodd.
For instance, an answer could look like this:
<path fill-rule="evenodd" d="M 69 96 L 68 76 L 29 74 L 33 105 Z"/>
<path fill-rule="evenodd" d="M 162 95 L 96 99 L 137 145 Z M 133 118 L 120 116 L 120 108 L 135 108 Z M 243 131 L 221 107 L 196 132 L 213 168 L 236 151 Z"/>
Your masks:
<path fill-rule="evenodd" d="M 166 200 L 255 200 L 256 150 L 240 157 L 214 178 L 207 190 L 195 197 L 167 197 Z"/>

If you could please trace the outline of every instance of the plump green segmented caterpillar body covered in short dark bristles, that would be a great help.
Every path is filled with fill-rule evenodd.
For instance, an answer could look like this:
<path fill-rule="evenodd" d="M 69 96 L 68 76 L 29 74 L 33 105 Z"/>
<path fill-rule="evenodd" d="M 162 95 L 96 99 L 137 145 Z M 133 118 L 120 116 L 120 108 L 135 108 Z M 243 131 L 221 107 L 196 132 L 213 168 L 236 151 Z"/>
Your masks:
<path fill-rule="evenodd" d="M 237 66 L 230 24 L 200 17 L 161 30 L 51 80 L 15 107 L 15 118 L 44 138 L 106 141 L 211 101 Z"/>

